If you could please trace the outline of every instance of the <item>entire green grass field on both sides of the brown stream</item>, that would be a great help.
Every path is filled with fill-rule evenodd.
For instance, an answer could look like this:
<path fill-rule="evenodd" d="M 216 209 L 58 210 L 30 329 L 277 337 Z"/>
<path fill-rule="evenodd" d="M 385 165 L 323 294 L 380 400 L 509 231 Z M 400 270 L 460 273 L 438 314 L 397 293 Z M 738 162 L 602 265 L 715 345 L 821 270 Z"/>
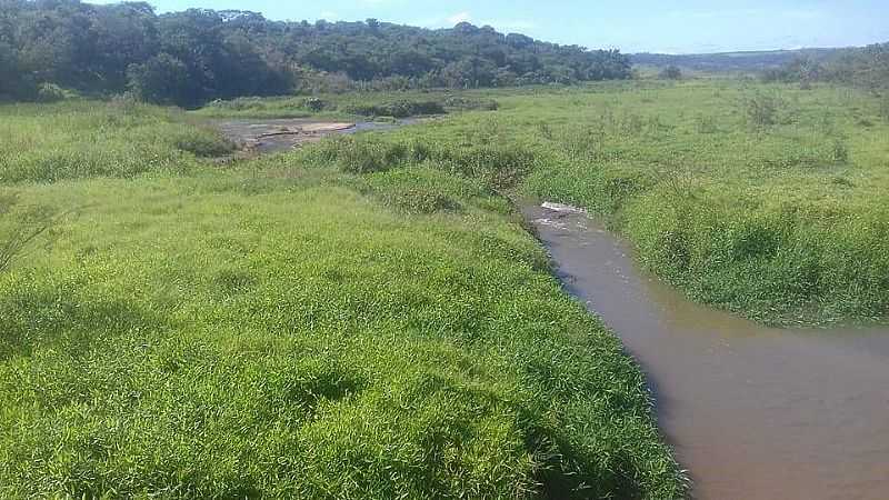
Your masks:
<path fill-rule="evenodd" d="M 0 241 L 43 229 L 8 268 L 0 248 L 0 497 L 682 498 L 639 368 L 510 198 L 606 217 L 741 314 L 889 317 L 889 123 L 868 96 L 426 97 L 449 117 L 226 164 L 200 118 L 304 99 L 0 108 Z M 293 112 L 424 109 L 329 99 Z"/>

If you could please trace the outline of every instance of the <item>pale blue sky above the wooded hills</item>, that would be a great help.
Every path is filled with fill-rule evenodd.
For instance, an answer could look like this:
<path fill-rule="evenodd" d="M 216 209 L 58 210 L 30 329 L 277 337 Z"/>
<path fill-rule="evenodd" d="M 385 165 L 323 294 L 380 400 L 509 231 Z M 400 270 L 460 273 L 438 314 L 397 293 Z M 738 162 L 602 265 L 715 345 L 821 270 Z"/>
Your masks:
<path fill-rule="evenodd" d="M 159 12 L 192 7 L 240 9 L 274 20 L 374 18 L 426 28 L 469 21 L 546 41 L 617 48 L 627 53 L 851 47 L 889 41 L 889 0 L 148 1 Z"/>

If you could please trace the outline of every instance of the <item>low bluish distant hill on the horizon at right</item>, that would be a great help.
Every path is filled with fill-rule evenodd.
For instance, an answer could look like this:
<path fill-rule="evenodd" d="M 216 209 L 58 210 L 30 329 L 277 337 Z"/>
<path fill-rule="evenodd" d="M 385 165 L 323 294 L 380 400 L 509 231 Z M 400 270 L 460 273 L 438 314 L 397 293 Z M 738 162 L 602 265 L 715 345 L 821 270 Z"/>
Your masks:
<path fill-rule="evenodd" d="M 782 68 L 798 59 L 822 61 L 847 49 L 800 49 L 759 52 L 722 52 L 698 54 L 636 53 L 630 56 L 635 66 L 682 69 L 706 72 L 760 72 Z"/>

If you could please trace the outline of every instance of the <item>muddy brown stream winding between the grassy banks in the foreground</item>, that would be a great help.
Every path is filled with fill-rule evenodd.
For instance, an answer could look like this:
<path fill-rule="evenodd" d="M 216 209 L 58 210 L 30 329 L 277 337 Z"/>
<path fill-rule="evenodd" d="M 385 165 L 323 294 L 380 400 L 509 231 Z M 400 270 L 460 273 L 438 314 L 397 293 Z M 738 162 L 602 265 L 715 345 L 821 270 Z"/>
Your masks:
<path fill-rule="evenodd" d="M 582 212 L 523 211 L 648 374 L 693 498 L 889 499 L 889 329 L 767 328 L 651 279 Z"/>

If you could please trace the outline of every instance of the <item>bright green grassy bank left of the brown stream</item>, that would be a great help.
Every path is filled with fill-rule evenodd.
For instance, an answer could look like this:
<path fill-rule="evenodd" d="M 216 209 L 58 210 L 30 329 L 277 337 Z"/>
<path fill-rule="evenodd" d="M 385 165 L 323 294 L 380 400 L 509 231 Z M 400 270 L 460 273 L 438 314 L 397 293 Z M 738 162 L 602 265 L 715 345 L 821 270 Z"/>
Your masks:
<path fill-rule="evenodd" d="M 89 153 L 4 164 L 53 172 L 4 177 L 19 206 L 81 209 L 0 273 L 0 497 L 682 497 L 638 367 L 499 177 L 338 142 L 221 170 L 167 111 L 20 109 L 42 142 L 7 150 Z"/>

